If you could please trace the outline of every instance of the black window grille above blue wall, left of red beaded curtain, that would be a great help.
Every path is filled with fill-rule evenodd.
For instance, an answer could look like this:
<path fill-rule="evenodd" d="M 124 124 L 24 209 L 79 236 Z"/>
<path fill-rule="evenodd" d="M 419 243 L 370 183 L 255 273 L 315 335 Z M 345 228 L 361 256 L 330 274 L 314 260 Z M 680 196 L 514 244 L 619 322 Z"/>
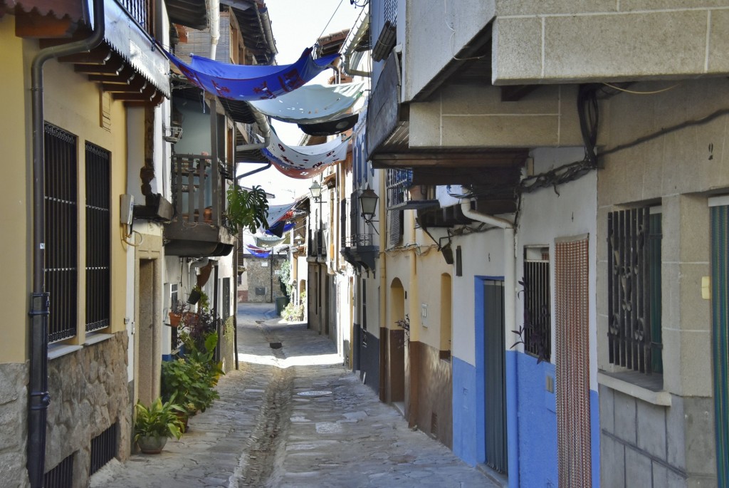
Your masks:
<path fill-rule="evenodd" d="M 549 361 L 552 349 L 549 250 L 539 257 L 524 259 L 524 350 Z"/>

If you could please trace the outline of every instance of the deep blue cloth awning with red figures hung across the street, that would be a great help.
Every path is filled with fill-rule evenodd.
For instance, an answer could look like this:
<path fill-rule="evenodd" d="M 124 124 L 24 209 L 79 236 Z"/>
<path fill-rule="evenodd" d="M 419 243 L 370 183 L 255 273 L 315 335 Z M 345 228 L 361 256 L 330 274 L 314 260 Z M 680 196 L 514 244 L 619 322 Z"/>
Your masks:
<path fill-rule="evenodd" d="M 306 82 L 327 69 L 339 54 L 311 58 L 311 47 L 293 64 L 281 66 L 243 66 L 220 63 L 192 55 L 190 65 L 167 53 L 170 62 L 192 84 L 222 98 L 233 100 L 265 100 L 276 98 L 301 88 Z"/>

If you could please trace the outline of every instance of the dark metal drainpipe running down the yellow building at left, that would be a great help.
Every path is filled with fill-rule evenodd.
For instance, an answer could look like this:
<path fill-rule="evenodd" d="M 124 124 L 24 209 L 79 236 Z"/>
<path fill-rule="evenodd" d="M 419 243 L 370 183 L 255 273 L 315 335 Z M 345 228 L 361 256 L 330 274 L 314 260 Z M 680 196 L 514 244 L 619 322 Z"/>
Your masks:
<path fill-rule="evenodd" d="M 50 295 L 45 291 L 44 113 L 43 65 L 50 59 L 92 50 L 104 40 L 104 0 L 93 0 L 93 31 L 87 39 L 40 50 L 31 65 L 33 145 L 33 284 L 31 292 L 31 350 L 28 389 L 28 479 L 31 487 L 43 486 L 45 472 L 48 394 L 48 315 Z"/>

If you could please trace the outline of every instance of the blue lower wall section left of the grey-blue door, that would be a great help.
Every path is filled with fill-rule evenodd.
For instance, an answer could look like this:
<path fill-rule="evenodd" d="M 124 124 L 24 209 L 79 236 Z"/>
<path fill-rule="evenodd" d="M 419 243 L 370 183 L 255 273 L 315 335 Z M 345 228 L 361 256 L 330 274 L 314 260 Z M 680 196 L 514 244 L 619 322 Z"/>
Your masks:
<path fill-rule="evenodd" d="M 476 433 L 483 432 L 483 415 L 476 414 L 476 368 L 458 357 L 452 360 L 453 453 L 474 466 L 483 462 L 483 452 L 481 457 L 477 454 Z M 480 444 L 483 451 L 483 442 Z"/>

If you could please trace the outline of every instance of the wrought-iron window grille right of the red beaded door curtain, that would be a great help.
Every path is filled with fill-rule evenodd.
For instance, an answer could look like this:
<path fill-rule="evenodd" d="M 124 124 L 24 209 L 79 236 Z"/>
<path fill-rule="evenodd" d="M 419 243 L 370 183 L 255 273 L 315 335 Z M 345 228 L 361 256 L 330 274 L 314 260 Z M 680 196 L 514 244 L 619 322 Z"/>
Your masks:
<path fill-rule="evenodd" d="M 610 363 L 660 373 L 660 214 L 608 214 L 608 351 Z"/>

